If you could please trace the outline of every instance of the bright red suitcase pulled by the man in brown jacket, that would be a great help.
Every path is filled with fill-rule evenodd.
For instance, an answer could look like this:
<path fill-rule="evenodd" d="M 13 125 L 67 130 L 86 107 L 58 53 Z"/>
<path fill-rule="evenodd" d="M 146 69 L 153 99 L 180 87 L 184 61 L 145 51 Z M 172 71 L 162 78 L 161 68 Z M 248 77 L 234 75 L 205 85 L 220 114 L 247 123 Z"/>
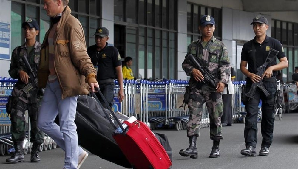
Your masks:
<path fill-rule="evenodd" d="M 172 162 L 153 132 L 141 121 L 129 123 L 113 137 L 134 169 L 168 169 Z"/>

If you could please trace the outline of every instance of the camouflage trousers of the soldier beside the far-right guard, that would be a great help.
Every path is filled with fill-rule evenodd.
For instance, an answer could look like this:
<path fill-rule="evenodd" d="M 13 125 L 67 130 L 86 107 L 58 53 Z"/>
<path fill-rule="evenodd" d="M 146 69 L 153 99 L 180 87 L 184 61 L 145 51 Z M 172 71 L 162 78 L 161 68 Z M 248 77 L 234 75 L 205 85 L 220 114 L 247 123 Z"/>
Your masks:
<path fill-rule="evenodd" d="M 200 135 L 200 123 L 202 120 L 203 104 L 206 102 L 210 119 L 210 139 L 219 141 L 223 139 L 221 116 L 223 115 L 223 100 L 221 93 L 203 85 L 201 89 L 193 89 L 190 92 L 188 103 L 189 121 L 187 123 L 187 136 Z"/>

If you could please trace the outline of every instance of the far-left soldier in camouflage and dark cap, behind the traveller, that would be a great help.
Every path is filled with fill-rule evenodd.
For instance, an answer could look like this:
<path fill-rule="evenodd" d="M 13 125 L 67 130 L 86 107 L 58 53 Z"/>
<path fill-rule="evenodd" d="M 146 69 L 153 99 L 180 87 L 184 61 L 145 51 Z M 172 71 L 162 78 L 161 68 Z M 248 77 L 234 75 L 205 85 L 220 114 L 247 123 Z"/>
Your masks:
<path fill-rule="evenodd" d="M 31 139 L 33 143 L 31 151 L 31 162 L 39 162 L 38 147 L 44 142 L 44 134 L 38 129 L 36 121 L 38 116 L 38 89 L 35 84 L 31 82 L 30 70 L 25 66 L 21 57 L 25 56 L 36 73 L 41 45 L 35 40 L 39 33 L 39 26 L 36 21 L 28 19 L 22 24 L 24 28 L 24 35 L 26 42 L 22 46 L 18 46 L 13 50 L 11 56 L 9 75 L 18 79 L 12 92 L 12 105 L 10 112 L 11 120 L 11 134 L 14 143 L 15 153 L 6 162 L 19 163 L 24 161 L 23 142 L 25 139 L 25 111 L 28 114 L 31 122 Z"/>

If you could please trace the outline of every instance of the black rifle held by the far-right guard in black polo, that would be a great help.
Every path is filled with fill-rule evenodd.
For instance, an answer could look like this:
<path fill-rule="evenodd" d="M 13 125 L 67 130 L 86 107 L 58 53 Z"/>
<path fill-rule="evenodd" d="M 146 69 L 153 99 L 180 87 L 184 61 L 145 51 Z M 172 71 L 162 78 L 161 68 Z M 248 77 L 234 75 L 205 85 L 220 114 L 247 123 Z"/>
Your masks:
<path fill-rule="evenodd" d="M 256 75 L 262 77 L 263 73 L 266 70 L 266 66 L 269 63 L 271 63 L 272 61 L 274 61 L 274 59 L 276 58 L 277 54 L 278 54 L 278 51 L 277 50 L 270 49 L 269 50 L 269 53 L 267 55 L 267 58 L 266 58 L 265 62 L 263 63 L 263 65 L 261 65 L 260 67 L 257 68 Z M 263 80 L 260 80 L 259 82 L 253 83 L 251 85 L 251 88 L 250 88 L 249 92 L 245 94 L 248 97 L 248 100 L 254 98 L 254 94 L 255 94 L 257 88 L 260 88 L 263 91 L 263 93 L 266 95 L 266 97 L 269 96 L 268 91 L 264 87 Z"/>

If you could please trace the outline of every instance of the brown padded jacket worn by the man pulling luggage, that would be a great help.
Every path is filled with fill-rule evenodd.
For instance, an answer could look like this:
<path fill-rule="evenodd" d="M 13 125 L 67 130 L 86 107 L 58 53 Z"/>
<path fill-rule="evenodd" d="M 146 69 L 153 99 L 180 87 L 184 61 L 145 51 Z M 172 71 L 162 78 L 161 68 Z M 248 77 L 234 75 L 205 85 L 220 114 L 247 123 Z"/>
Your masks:
<path fill-rule="evenodd" d="M 96 83 L 96 70 L 87 54 L 84 31 L 81 23 L 67 6 L 58 22 L 54 39 L 54 68 L 62 90 L 62 99 L 88 94 L 89 85 Z M 52 28 L 52 27 L 51 27 Z M 47 31 L 41 46 L 38 69 L 38 87 L 45 88 L 49 71 Z"/>

